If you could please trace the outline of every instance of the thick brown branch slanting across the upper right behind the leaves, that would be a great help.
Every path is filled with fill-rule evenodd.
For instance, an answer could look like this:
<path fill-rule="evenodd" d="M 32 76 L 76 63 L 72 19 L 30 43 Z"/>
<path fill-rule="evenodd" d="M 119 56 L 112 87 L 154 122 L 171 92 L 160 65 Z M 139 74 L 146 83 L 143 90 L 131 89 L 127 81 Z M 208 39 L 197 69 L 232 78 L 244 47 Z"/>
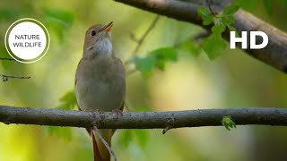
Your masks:
<path fill-rule="evenodd" d="M 114 0 L 120 3 L 135 6 L 137 8 L 158 13 L 161 15 L 174 18 L 178 21 L 187 21 L 204 27 L 210 30 L 211 26 L 203 26 L 202 19 L 197 14 L 198 4 L 181 2 L 176 0 Z M 192 1 L 190 1 L 192 2 Z M 215 9 L 221 8 L 219 5 L 214 5 Z M 239 10 L 234 14 L 236 23 L 234 27 L 239 31 L 243 30 L 261 30 L 269 37 L 269 43 L 264 49 L 246 49 L 246 53 L 257 58 L 265 64 L 270 64 L 274 68 L 287 72 L 287 34 L 282 30 L 276 29 L 274 26 L 262 21 L 251 13 Z M 230 33 L 226 32 L 224 38 L 228 41 Z"/>

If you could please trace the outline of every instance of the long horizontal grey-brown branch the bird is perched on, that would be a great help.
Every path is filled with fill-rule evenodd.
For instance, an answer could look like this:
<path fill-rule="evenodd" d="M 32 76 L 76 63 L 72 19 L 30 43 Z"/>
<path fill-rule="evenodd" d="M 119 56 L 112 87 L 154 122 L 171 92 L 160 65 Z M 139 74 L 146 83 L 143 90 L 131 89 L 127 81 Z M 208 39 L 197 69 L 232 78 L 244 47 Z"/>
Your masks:
<path fill-rule="evenodd" d="M 58 109 L 0 106 L 0 122 L 74 126 L 99 129 L 167 129 L 180 127 L 218 126 L 222 117 L 230 115 L 237 124 L 265 124 L 287 126 L 284 108 L 230 108 L 170 112 L 93 113 Z"/>

